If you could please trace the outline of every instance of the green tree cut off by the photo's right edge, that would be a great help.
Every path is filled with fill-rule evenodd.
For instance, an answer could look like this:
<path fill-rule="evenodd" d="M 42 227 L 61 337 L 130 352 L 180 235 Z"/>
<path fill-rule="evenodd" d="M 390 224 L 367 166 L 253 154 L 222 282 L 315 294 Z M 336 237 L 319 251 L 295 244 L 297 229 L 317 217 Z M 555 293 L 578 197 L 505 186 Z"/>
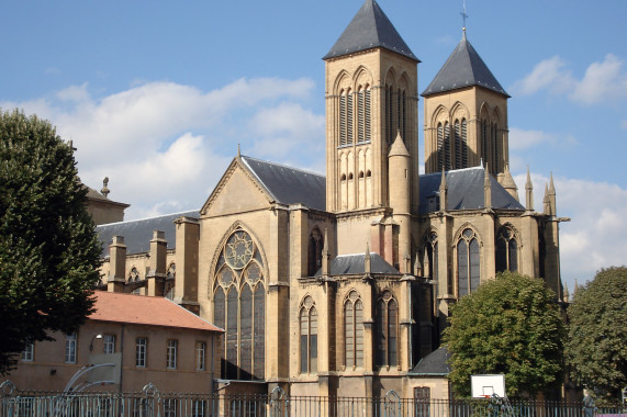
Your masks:
<path fill-rule="evenodd" d="M 627 386 L 627 268 L 602 269 L 568 309 L 567 361 L 576 382 L 602 397 Z"/>

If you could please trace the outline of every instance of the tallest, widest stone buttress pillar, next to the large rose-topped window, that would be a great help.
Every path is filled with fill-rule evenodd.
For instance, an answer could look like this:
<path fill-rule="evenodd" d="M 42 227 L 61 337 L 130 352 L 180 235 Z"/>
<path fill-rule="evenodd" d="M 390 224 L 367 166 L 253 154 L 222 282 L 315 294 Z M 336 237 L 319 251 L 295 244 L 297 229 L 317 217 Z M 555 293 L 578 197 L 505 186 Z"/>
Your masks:
<path fill-rule="evenodd" d="M 175 221 L 177 266 L 175 279 L 175 303 L 198 314 L 198 250 L 200 241 L 200 223 L 197 218 L 179 217 Z"/>

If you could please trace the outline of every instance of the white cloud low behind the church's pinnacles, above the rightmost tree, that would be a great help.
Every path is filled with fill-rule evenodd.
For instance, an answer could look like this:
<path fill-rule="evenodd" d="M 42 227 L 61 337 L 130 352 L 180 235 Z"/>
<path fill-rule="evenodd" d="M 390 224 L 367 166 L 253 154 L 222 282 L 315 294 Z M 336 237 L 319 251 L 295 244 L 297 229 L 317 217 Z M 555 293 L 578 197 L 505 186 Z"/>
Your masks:
<path fill-rule="evenodd" d="M 524 188 L 526 174 L 515 180 Z M 549 179 L 533 174 L 531 181 L 535 210 L 542 211 Z M 607 182 L 559 177 L 555 185 L 558 216 L 571 218 L 560 224 L 560 259 L 562 280 L 572 294 L 575 280 L 582 284 L 601 268 L 626 263 L 627 190 Z"/>

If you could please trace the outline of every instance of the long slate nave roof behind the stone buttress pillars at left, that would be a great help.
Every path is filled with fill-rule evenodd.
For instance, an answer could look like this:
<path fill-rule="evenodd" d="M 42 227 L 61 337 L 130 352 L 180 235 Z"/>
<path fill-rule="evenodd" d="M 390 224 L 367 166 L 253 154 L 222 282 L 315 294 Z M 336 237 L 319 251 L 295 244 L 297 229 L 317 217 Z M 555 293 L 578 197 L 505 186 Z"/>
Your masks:
<path fill-rule="evenodd" d="M 113 236 L 124 237 L 124 245 L 126 245 L 127 253 L 142 253 L 149 251 L 153 230 L 165 232 L 166 240 L 168 241 L 168 249 L 173 249 L 176 246 L 173 221 L 181 216 L 199 218 L 200 213 L 198 210 L 192 210 L 189 212 L 166 214 L 163 216 L 141 218 L 137 221 L 109 223 L 96 227 L 98 238 L 102 244 L 101 257 L 104 258 L 109 255 L 109 245 L 111 244 Z"/>

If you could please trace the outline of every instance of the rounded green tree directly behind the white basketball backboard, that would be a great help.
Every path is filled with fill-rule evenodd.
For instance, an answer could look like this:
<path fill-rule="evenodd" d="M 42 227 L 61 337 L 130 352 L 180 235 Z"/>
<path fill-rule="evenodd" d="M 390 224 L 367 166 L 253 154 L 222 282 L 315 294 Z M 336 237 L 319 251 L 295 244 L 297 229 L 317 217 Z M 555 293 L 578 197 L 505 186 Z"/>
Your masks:
<path fill-rule="evenodd" d="M 563 374 L 564 326 L 542 280 L 497 274 L 451 307 L 444 341 L 454 391 L 470 395 L 472 374 L 504 374 L 508 396 L 549 393 Z"/>

